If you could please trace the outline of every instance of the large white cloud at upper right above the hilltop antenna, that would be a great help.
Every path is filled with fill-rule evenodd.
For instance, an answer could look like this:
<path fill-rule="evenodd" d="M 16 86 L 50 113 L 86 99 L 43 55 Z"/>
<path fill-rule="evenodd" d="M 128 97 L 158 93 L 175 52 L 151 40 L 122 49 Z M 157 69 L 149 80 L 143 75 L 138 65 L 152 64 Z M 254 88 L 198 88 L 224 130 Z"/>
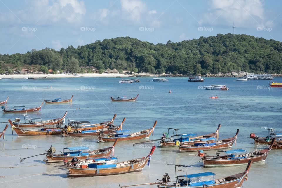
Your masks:
<path fill-rule="evenodd" d="M 200 25 L 230 25 L 257 27 L 270 24 L 265 20 L 263 3 L 260 0 L 209 0 L 209 9 L 199 20 Z M 269 25 L 268 25 L 269 26 Z"/>

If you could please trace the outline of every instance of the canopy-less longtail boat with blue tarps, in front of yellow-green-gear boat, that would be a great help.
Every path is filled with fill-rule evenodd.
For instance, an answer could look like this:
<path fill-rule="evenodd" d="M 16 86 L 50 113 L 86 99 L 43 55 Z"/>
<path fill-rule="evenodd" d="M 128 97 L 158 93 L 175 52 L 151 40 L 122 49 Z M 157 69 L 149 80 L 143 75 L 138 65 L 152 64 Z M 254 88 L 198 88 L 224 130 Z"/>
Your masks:
<path fill-rule="evenodd" d="M 204 143 L 194 143 L 193 145 L 180 145 L 179 152 L 192 152 L 198 150 L 216 150 L 220 148 L 228 148 L 232 147 L 233 143 L 236 142 L 237 135 L 239 133 L 239 129 L 237 129 L 236 135 L 231 138 L 227 138 L 224 140 L 218 140 L 216 142 L 204 142 Z"/>

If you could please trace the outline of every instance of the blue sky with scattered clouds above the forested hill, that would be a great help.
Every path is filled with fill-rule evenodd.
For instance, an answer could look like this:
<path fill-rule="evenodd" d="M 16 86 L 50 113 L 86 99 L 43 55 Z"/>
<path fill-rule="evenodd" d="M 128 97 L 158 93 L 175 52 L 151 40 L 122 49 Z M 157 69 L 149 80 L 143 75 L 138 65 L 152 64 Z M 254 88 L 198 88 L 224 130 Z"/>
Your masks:
<path fill-rule="evenodd" d="M 0 53 L 130 36 L 154 44 L 232 33 L 282 41 L 282 1 L 0 0 Z"/>

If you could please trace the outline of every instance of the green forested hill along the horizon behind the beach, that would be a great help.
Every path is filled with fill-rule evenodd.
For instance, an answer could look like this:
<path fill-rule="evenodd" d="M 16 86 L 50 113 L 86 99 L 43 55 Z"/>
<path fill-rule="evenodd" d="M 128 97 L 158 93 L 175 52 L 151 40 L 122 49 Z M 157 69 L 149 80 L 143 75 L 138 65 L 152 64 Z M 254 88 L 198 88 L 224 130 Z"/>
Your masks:
<path fill-rule="evenodd" d="M 136 38 L 118 37 L 60 51 L 46 48 L 22 55 L 0 55 L 1 69 L 45 65 L 52 70 L 80 72 L 79 66 L 94 66 L 146 73 L 185 75 L 244 71 L 282 73 L 282 44 L 248 35 L 218 34 L 189 41 L 152 44 Z M 14 67 L 11 67 L 14 66 Z"/>

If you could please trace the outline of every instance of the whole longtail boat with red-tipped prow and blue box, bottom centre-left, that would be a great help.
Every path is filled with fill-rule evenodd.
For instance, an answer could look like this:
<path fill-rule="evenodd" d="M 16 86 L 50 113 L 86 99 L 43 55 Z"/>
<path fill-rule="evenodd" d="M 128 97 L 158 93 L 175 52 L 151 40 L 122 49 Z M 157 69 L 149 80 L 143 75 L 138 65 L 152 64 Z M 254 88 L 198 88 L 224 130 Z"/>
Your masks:
<path fill-rule="evenodd" d="M 140 172 L 148 162 L 150 165 L 150 158 L 155 150 L 156 146 L 153 146 L 151 152 L 147 157 L 137 158 L 133 160 L 118 162 L 114 164 L 96 164 L 80 168 L 80 167 L 68 167 L 70 177 L 81 176 L 106 176 L 115 174 L 125 174 L 130 172 Z"/>

